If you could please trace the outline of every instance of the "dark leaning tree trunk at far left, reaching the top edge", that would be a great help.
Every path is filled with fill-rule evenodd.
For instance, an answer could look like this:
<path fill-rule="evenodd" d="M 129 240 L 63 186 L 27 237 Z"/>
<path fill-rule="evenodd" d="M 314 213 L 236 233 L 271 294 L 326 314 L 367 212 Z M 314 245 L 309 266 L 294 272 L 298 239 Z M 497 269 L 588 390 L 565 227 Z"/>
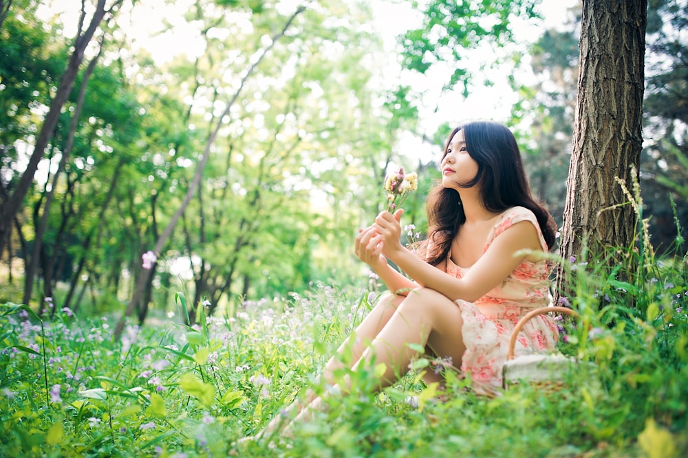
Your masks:
<path fill-rule="evenodd" d="M 87 30 L 83 30 L 83 19 L 85 17 L 85 11 L 83 10 L 84 5 L 82 3 L 82 11 L 79 20 L 79 29 L 74 40 L 74 51 L 72 55 L 69 56 L 69 62 L 67 62 L 67 68 L 65 73 L 60 80 L 60 85 L 55 93 L 55 97 L 52 102 L 50 102 L 50 108 L 48 108 L 47 115 L 45 115 L 45 120 L 43 121 L 43 126 L 36 137 L 36 144 L 34 145 L 34 152 L 32 152 L 29 159 L 26 170 L 21 175 L 17 187 L 14 188 L 14 192 L 5 202 L 0 211 L 0 252 L 3 250 L 3 244 L 6 240 L 6 233 L 9 231 L 10 224 L 14 220 L 14 216 L 21 208 L 24 201 L 24 197 L 28 193 L 33 181 L 36 169 L 39 166 L 39 162 L 43 159 L 43 152 L 45 148 L 50 143 L 52 139 L 55 126 L 60 117 L 62 107 L 69 93 L 72 91 L 72 86 L 74 85 L 74 80 L 78 74 L 81 62 L 83 62 L 84 51 L 87 45 L 90 43 L 91 38 L 93 38 L 96 29 L 100 25 L 101 21 L 105 18 L 105 15 L 114 11 L 118 5 L 122 3 L 122 0 L 116 0 L 114 4 L 109 9 L 105 9 L 105 0 L 98 0 L 96 3 L 96 9 L 91 17 L 91 22 Z"/>

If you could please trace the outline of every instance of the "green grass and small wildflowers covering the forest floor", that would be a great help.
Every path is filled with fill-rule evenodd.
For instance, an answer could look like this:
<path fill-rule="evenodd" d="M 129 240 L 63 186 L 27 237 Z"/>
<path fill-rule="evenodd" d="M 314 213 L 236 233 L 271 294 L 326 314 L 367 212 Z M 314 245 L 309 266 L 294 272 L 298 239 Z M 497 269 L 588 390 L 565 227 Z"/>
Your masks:
<path fill-rule="evenodd" d="M 601 264 L 569 265 L 581 317 L 566 325 L 561 351 L 595 370 L 576 371 L 558 391 L 521 384 L 486 398 L 449 373 L 449 400 L 433 402 L 418 381 L 427 361 L 379 394 L 367 390 L 374 368 L 363 369 L 351 374 L 351 396 L 330 398 L 292 439 L 239 446 L 231 444 L 306 387 L 323 389 L 316 374 L 371 307 L 367 290 L 316 284 L 309 295 L 238 304 L 224 317 L 206 318 L 200 306 L 192 326 L 128 325 L 119 342 L 106 317 L 56 310 L 41 321 L 8 303 L 0 456 L 685 456 L 687 262 L 645 262 L 643 275 L 624 281 Z"/>

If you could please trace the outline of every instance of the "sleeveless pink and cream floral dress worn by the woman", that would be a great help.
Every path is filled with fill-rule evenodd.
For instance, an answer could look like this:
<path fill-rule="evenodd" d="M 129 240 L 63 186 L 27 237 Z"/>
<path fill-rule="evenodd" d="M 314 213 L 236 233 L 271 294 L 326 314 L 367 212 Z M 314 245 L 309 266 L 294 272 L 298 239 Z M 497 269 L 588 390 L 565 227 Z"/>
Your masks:
<path fill-rule="evenodd" d="M 548 247 L 535 214 L 524 207 L 513 207 L 499 216 L 487 236 L 483 253 L 499 234 L 521 221 L 530 221 L 535 225 L 542 249 L 547 252 Z M 456 301 L 464 321 L 462 336 L 466 345 L 461 371 L 471 374 L 473 389 L 477 393 L 493 394 L 502 387 L 502 367 L 516 323 L 530 310 L 548 306 L 548 264 L 546 260 L 524 260 L 502 284 L 477 301 Z M 461 278 L 468 270 L 451 262 L 449 253 L 447 273 Z M 557 326 L 552 317 L 546 314 L 533 317 L 519 332 L 515 354 L 553 350 L 557 336 Z"/>

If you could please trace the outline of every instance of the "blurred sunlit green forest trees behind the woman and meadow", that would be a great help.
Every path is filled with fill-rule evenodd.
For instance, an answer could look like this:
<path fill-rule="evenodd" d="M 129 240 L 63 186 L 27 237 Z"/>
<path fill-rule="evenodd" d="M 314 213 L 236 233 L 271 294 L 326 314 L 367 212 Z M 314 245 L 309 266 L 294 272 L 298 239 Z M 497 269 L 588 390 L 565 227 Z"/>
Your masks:
<path fill-rule="evenodd" d="M 0 301 L 127 308 L 143 322 L 176 310 L 178 291 L 213 314 L 317 284 L 366 284 L 352 240 L 383 208 L 385 174 L 418 172 L 402 224 L 424 231 L 444 139 L 476 114 L 514 128 L 533 192 L 561 225 L 579 5 L 557 27 L 543 26 L 537 2 L 466 9 L 452 41 L 431 27 L 443 2 L 428 3 L 434 15 L 394 1 L 172 3 L 146 38 L 133 25 L 161 10 L 116 1 L 85 45 L 0 251 Z M 4 205 L 78 44 L 80 5 L 0 5 Z M 85 8 L 87 24 L 96 10 Z M 674 246 L 674 216 L 688 227 L 686 21 L 685 1 L 649 1 L 640 176 L 658 253 Z M 396 40 L 380 34 L 385 22 L 401 29 Z"/>

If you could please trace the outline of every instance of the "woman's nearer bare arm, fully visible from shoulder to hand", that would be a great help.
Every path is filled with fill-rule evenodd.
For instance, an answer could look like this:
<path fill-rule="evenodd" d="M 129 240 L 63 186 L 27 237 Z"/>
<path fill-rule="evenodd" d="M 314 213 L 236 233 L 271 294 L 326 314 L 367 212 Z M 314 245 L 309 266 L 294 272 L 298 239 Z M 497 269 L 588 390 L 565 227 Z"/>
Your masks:
<path fill-rule="evenodd" d="M 537 229 L 529 221 L 517 222 L 499 234 L 480 259 L 462 278 L 453 277 L 420 260 L 399 242 L 401 228 L 389 212 L 376 218 L 376 230 L 383 240 L 382 252 L 409 277 L 427 288 L 442 293 L 451 300 L 473 302 L 486 295 L 513 272 L 526 254 L 521 250 L 541 251 Z"/>

